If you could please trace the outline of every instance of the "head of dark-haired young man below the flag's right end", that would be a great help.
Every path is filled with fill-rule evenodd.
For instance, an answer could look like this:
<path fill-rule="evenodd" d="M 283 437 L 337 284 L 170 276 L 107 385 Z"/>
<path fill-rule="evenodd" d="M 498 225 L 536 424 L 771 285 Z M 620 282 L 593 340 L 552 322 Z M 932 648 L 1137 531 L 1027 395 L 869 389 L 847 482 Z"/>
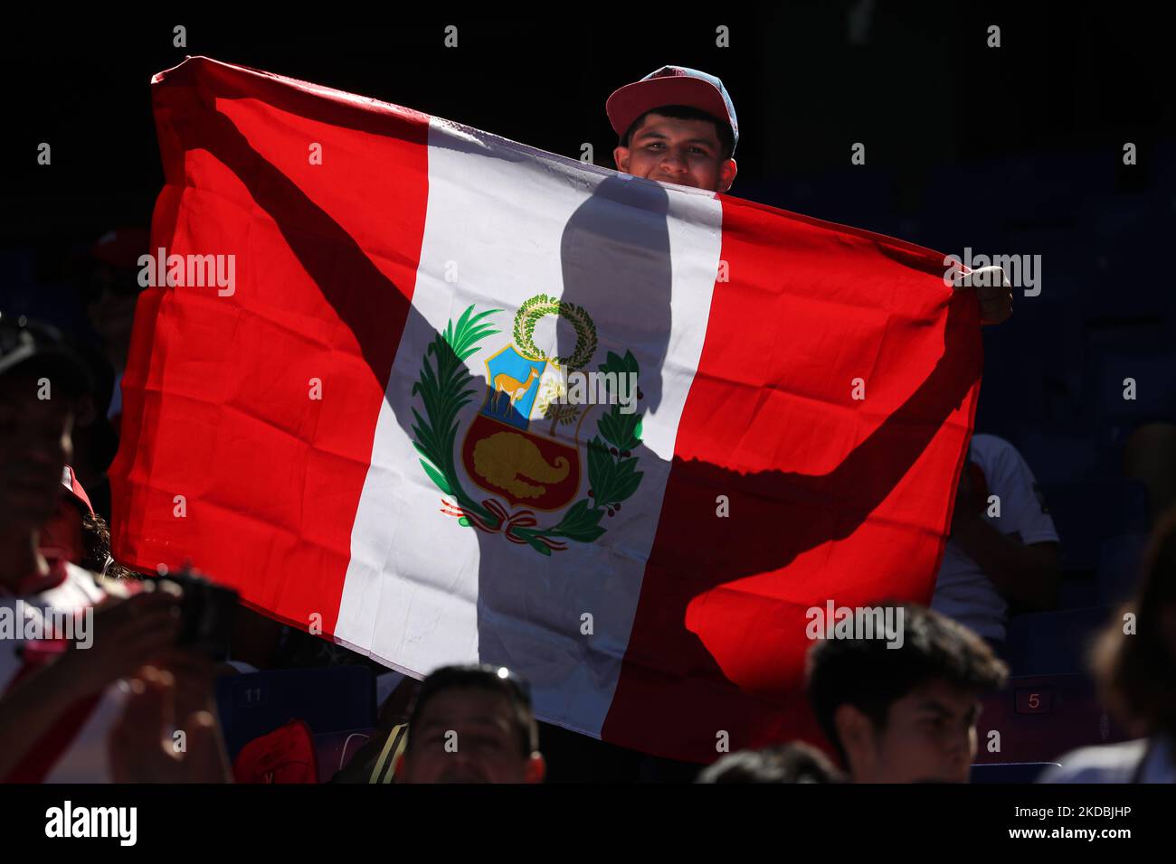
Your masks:
<path fill-rule="evenodd" d="M 809 650 L 813 710 L 854 783 L 967 783 L 978 699 L 1008 668 L 950 618 L 901 609 L 902 642 L 830 638 Z"/>

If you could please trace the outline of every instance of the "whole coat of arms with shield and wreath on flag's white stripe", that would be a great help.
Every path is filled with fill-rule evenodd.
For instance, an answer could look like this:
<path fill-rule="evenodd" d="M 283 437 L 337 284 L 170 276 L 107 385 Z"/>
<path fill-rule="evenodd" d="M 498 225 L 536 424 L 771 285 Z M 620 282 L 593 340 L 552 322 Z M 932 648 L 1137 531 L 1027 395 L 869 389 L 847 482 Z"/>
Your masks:
<path fill-rule="evenodd" d="M 596 353 L 596 326 L 582 307 L 540 294 L 519 308 L 514 342 L 486 360 L 482 407 L 467 426 L 459 453 L 457 414 L 477 395 L 466 360 L 481 350 L 480 342 L 501 333 L 490 323 L 501 312 L 475 314 L 468 307 L 426 350 L 413 384 L 423 410 L 422 415 L 413 408 L 413 443 L 421 467 L 446 496 L 441 511 L 463 525 L 501 533 L 543 555 L 567 549 L 568 541 L 592 543 L 607 530 L 601 520 L 617 513 L 641 484 L 633 451 L 641 443 L 642 415 L 624 413 L 616 401 L 575 404 L 566 398 L 567 376 L 584 370 Z M 535 346 L 535 324 L 547 315 L 575 329 L 570 355 L 550 357 Z M 597 370 L 615 374 L 615 380 L 632 376 L 630 381 L 639 373 L 632 351 L 623 357 L 609 351 Z M 595 434 L 584 442 L 582 427 L 594 414 Z M 462 487 L 459 458 L 489 497 L 479 502 Z M 572 503 L 583 466 L 587 497 Z M 536 514 L 547 514 L 546 524 Z"/>

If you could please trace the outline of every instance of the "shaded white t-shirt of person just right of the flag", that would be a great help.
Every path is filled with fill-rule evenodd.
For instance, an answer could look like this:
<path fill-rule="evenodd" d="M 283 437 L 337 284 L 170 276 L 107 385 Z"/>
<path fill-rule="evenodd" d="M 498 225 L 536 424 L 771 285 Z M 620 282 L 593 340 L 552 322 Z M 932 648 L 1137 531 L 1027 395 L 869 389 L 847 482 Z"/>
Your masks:
<path fill-rule="evenodd" d="M 1020 535 L 1025 545 L 1031 543 L 1056 543 L 1057 531 L 1041 496 L 1037 482 L 1029 466 L 1004 438 L 995 435 L 973 435 L 968 458 L 984 475 L 987 491 L 976 489 L 983 501 L 996 495 L 1001 515 L 983 518 L 1001 534 Z M 1009 617 L 1009 604 L 960 545 L 948 540 L 943 563 L 935 581 L 931 609 L 975 630 L 987 639 L 1004 641 L 1004 625 Z"/>

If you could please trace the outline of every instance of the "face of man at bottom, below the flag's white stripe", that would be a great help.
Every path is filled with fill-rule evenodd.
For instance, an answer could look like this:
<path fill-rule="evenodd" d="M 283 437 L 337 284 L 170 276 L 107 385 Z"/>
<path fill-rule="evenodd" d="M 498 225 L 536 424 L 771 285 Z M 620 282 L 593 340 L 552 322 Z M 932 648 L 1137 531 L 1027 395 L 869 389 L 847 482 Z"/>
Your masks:
<path fill-rule="evenodd" d="M 409 729 L 396 771 L 405 783 L 539 783 L 543 758 L 524 754 L 510 701 L 477 688 L 445 690 Z"/>

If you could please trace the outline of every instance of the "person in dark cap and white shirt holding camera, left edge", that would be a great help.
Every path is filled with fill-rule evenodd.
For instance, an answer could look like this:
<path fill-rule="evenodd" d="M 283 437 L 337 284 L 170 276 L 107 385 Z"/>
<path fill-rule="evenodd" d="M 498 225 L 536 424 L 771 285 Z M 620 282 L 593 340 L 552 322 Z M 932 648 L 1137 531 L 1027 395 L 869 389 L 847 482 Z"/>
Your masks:
<path fill-rule="evenodd" d="M 0 781 L 112 779 L 107 734 L 127 692 L 118 682 L 181 651 L 174 596 L 127 596 L 40 550 L 87 389 L 55 330 L 0 314 Z M 159 737 L 143 743 L 158 749 Z"/>

